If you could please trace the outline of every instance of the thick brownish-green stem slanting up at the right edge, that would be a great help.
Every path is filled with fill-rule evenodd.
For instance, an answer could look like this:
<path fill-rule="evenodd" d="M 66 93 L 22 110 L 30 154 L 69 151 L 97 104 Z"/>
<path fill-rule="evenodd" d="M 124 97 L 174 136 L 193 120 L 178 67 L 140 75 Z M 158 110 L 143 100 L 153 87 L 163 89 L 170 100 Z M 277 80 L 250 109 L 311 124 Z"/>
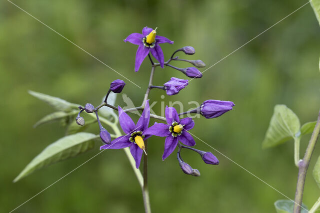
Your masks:
<path fill-rule="evenodd" d="M 312 152 L 314 150 L 315 143 L 319 137 L 319 133 L 320 133 L 320 112 L 318 114 L 318 119 L 317 119 L 316 125 L 313 129 L 309 144 L 305 150 L 303 160 L 300 160 L 298 163 L 299 173 L 298 173 L 298 179 L 297 179 L 297 183 L 296 183 L 293 213 L 300 213 L 301 212 L 301 204 L 302 204 L 302 196 L 303 196 L 303 188 L 304 188 L 306 171 L 309 167 Z"/>

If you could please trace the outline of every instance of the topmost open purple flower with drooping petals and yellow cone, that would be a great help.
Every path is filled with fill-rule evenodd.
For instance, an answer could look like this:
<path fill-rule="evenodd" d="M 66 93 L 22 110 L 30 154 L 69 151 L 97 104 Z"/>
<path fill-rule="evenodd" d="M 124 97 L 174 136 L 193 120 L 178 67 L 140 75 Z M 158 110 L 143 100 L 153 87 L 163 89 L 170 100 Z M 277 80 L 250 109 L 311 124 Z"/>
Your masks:
<path fill-rule="evenodd" d="M 155 35 L 156 28 L 153 30 L 149 27 L 144 27 L 142 29 L 142 34 L 140 33 L 132 33 L 128 35 L 124 42 L 130 42 L 138 46 L 135 55 L 135 66 L 134 71 L 137 72 L 140 68 L 140 65 L 144 58 L 148 55 L 149 52 L 153 55 L 153 57 L 159 61 L 160 66 L 163 68 L 164 65 L 164 56 L 161 47 L 158 45 L 160 43 L 170 43 L 173 41 L 167 39 L 166 37 Z"/>

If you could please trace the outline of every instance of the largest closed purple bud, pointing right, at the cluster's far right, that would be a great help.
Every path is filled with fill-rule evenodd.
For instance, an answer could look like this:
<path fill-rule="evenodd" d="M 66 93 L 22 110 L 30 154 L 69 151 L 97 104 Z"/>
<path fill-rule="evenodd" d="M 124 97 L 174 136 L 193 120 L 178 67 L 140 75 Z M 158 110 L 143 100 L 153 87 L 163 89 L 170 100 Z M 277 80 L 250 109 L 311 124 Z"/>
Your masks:
<path fill-rule="evenodd" d="M 205 118 L 216 118 L 231 110 L 232 101 L 206 100 L 200 106 L 200 114 Z"/>

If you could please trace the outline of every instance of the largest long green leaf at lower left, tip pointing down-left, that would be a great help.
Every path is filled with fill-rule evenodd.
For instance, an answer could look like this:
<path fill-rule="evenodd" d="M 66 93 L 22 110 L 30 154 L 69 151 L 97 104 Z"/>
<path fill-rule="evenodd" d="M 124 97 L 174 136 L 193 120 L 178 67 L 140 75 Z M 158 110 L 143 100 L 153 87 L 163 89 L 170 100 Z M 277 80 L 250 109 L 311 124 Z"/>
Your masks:
<path fill-rule="evenodd" d="M 98 137 L 98 135 L 81 132 L 60 138 L 56 142 L 47 146 L 40 154 L 33 158 L 33 160 L 26 165 L 26 167 L 13 180 L 13 182 L 17 182 L 34 170 L 43 168 L 70 157 L 74 157 L 80 153 L 92 149 L 94 146 L 93 139 Z"/>

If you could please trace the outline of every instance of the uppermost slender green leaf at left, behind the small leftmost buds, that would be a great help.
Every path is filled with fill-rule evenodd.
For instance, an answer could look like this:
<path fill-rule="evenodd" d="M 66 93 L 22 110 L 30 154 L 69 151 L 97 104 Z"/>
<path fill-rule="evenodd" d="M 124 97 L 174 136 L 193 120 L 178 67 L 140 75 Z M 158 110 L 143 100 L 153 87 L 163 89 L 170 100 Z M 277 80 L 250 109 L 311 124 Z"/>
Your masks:
<path fill-rule="evenodd" d="M 63 99 L 53 97 L 50 95 L 45 95 L 39 92 L 29 91 L 29 94 L 46 102 L 47 104 L 49 104 L 50 106 L 52 106 L 54 109 L 58 111 L 69 112 L 72 109 L 78 109 L 78 106 L 79 106 L 78 104 L 69 103 Z"/>

